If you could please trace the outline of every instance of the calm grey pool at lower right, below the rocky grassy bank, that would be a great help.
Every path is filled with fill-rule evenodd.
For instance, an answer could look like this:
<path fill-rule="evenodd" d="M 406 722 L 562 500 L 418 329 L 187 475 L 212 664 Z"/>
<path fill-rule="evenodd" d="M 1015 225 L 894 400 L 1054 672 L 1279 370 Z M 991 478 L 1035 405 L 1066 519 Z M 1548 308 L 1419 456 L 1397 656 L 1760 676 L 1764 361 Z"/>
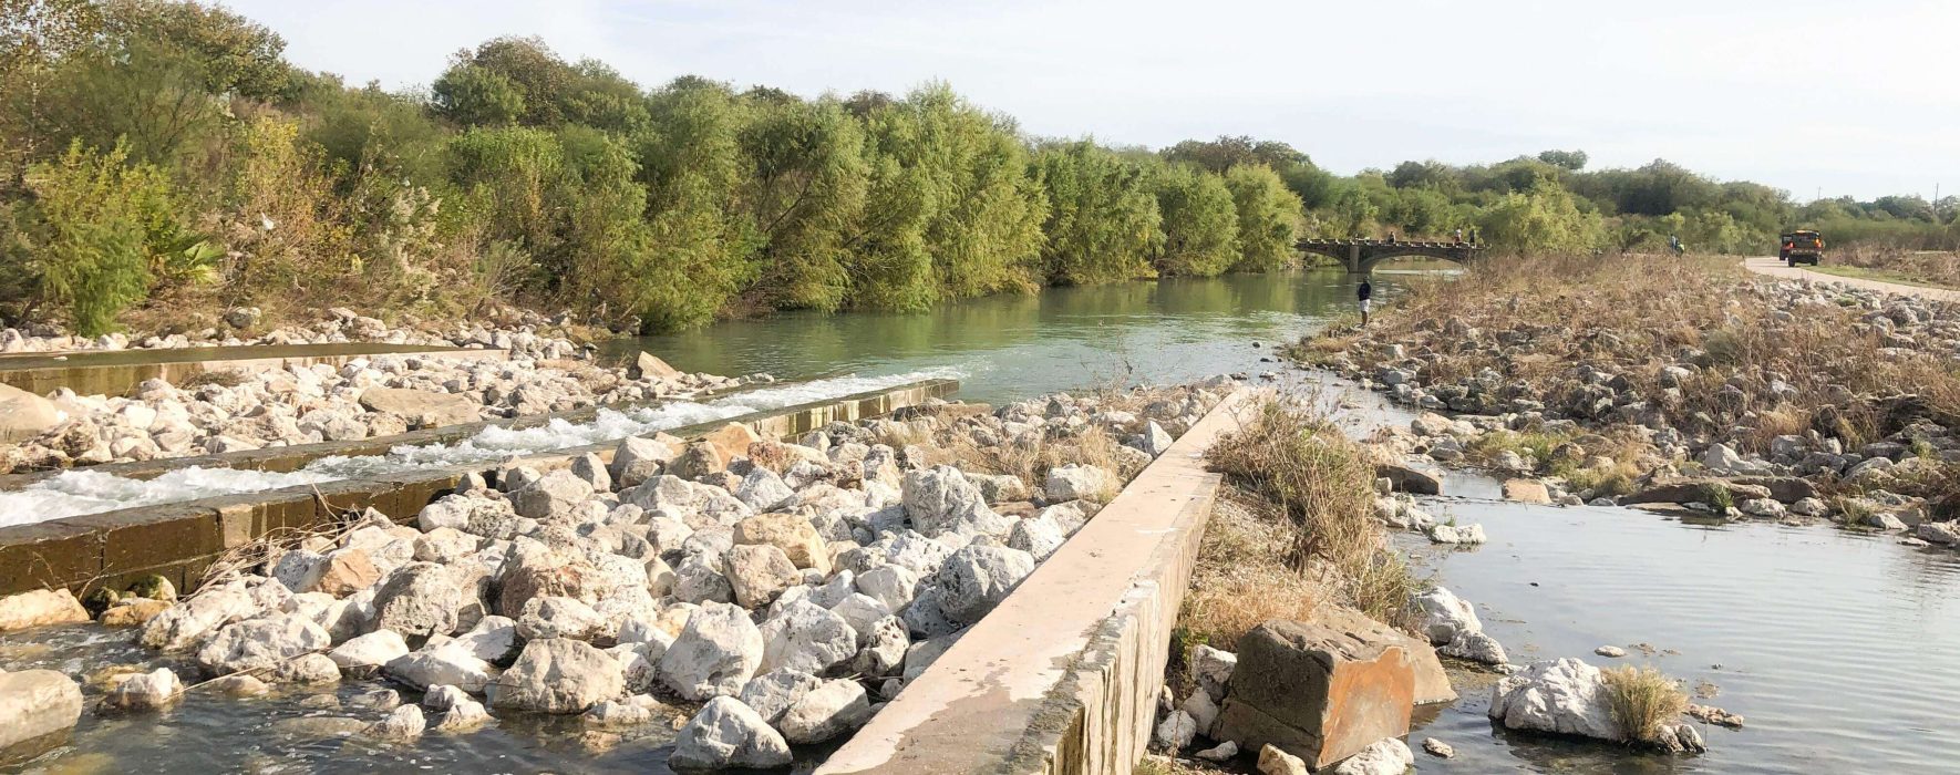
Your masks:
<path fill-rule="evenodd" d="M 1495 730 L 1472 689 L 1411 738 L 1439 738 L 1452 771 L 1942 773 L 1960 728 L 1960 555 L 1827 526 L 1690 524 L 1623 508 L 1437 498 L 1492 543 L 1407 542 L 1437 583 L 1476 602 L 1513 661 L 1648 663 L 1715 687 L 1742 730 L 1701 726 L 1697 757 Z M 1621 646 L 1625 659 L 1593 655 Z M 1646 644 L 1652 653 L 1639 647 Z"/>

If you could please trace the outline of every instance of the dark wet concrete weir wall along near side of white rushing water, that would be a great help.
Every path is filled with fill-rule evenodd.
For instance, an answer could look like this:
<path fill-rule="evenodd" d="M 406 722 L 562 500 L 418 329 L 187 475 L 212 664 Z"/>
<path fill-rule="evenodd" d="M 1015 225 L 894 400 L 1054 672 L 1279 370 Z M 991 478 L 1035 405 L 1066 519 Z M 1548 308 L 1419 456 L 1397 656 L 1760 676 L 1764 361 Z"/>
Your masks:
<path fill-rule="evenodd" d="M 933 379 L 886 390 L 858 392 L 809 404 L 786 406 L 666 434 L 698 438 L 731 422 L 741 422 L 762 438 L 784 438 L 833 420 L 860 420 L 945 398 L 958 381 Z M 555 449 L 521 457 L 517 463 L 551 469 L 574 457 L 596 453 L 612 461 L 617 441 Z M 398 522 L 414 520 L 421 506 L 441 498 L 468 473 L 492 465 L 427 467 L 370 479 L 345 479 L 312 487 L 245 492 L 161 506 L 71 516 L 61 520 L 0 528 L 0 594 L 49 587 L 122 587 L 159 573 L 176 589 L 196 587 L 204 569 L 227 549 L 259 538 L 314 530 L 339 522 L 341 514 L 376 508 Z"/>

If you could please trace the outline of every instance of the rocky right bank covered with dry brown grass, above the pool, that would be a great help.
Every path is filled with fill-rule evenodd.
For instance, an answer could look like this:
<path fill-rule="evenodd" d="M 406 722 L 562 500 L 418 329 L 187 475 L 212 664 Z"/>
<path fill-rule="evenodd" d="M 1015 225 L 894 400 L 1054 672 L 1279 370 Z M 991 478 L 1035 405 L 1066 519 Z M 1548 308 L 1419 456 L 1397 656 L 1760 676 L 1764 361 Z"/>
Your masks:
<path fill-rule="evenodd" d="M 1960 543 L 1960 310 L 1733 263 L 1546 257 L 1419 284 L 1294 357 L 1452 416 L 1384 441 L 1560 502 Z"/>

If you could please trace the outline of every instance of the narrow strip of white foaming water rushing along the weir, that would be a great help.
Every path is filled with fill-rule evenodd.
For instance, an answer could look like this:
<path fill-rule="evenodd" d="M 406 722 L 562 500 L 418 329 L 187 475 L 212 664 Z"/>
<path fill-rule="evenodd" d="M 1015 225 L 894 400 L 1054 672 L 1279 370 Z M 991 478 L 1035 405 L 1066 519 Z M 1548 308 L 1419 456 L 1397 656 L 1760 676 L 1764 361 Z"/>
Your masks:
<path fill-rule="evenodd" d="M 857 392 L 884 390 L 923 379 L 956 379 L 958 369 L 925 369 L 886 377 L 833 377 L 809 383 L 745 390 L 719 400 L 672 400 L 653 408 L 617 412 L 602 408 L 592 422 L 551 420 L 537 428 L 484 428 L 455 443 L 402 445 L 386 455 L 331 455 L 294 473 L 190 467 L 157 479 L 125 479 L 100 471 L 65 471 L 20 491 L 0 492 L 0 526 L 263 492 L 280 487 L 412 471 L 419 467 L 486 463 L 514 455 L 623 439 L 670 428 L 735 418 Z"/>

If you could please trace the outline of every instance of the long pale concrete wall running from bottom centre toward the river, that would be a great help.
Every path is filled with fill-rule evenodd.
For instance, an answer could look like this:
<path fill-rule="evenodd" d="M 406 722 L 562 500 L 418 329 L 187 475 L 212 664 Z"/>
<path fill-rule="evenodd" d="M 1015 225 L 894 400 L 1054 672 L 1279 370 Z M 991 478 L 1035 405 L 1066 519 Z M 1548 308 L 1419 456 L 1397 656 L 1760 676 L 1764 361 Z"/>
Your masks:
<path fill-rule="evenodd" d="M 1203 451 L 1245 400 L 1219 402 L 817 773 L 1129 773 L 1217 496 Z"/>

